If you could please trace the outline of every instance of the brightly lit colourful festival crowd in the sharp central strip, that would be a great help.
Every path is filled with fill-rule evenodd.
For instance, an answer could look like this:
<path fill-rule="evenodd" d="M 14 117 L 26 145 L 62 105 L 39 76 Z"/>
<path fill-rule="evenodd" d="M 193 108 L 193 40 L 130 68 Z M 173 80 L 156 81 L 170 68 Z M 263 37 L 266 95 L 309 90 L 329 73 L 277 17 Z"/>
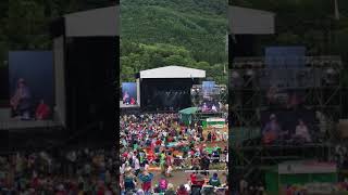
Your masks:
<path fill-rule="evenodd" d="M 227 167 L 227 147 L 206 144 L 223 141 L 226 139 L 223 133 L 212 130 L 207 135 L 199 123 L 182 123 L 178 114 L 123 115 L 120 125 L 123 194 L 226 193 L 222 176 L 207 171 L 212 164 Z M 175 169 L 192 172 L 187 178 L 182 174 L 183 182 L 175 186 L 171 182 Z"/>

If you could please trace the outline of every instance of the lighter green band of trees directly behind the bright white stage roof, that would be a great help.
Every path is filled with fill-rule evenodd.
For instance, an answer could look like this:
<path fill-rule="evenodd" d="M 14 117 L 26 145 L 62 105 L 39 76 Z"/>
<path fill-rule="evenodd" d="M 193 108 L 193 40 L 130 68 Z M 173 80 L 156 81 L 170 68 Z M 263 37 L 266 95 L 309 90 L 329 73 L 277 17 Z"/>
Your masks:
<path fill-rule="evenodd" d="M 224 63 L 211 65 L 204 61 L 197 62 L 184 47 L 167 43 L 136 44 L 122 41 L 121 53 L 121 81 L 134 81 L 134 75 L 144 69 L 179 65 L 204 69 L 207 75 L 217 82 L 227 82 Z"/>

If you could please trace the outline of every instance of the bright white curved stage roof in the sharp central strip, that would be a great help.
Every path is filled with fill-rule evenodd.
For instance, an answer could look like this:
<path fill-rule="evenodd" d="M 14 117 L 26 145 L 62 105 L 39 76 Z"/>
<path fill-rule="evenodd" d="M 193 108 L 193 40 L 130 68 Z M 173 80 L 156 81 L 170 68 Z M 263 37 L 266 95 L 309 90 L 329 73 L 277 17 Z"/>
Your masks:
<path fill-rule="evenodd" d="M 206 70 L 182 67 L 165 66 L 154 69 L 142 70 L 140 78 L 206 78 Z"/>

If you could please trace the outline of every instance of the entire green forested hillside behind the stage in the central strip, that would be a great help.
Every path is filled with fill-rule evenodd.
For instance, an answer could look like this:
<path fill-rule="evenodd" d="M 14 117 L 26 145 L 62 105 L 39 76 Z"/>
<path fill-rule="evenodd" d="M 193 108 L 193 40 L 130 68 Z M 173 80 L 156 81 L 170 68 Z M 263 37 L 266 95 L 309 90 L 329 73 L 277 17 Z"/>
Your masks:
<path fill-rule="evenodd" d="M 226 82 L 226 0 L 121 1 L 122 81 L 166 65 L 202 68 Z"/>

